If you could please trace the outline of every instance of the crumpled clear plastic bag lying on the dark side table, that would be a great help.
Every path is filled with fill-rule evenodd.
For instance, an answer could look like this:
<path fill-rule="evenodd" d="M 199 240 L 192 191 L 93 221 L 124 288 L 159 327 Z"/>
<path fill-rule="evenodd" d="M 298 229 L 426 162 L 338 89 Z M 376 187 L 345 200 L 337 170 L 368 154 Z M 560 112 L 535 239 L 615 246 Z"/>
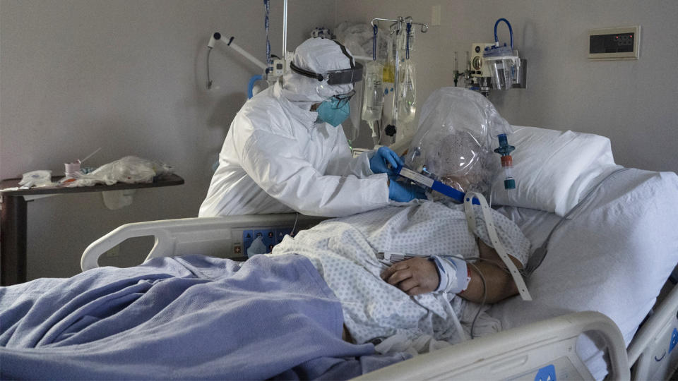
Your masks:
<path fill-rule="evenodd" d="M 172 167 L 153 160 L 126 156 L 114 162 L 104 164 L 89 174 L 76 174 L 76 180 L 67 186 L 93 186 L 97 183 L 152 183 L 155 177 L 172 174 Z"/>

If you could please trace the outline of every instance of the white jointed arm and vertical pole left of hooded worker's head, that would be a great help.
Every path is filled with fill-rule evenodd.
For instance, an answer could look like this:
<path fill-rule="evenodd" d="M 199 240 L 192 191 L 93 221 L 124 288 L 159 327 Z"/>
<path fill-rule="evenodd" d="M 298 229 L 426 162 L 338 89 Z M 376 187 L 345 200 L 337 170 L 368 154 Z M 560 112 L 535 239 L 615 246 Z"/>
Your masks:
<path fill-rule="evenodd" d="M 210 90 L 212 88 L 212 79 L 210 78 L 210 53 L 214 49 L 215 45 L 219 42 L 225 44 L 226 47 L 232 48 L 234 51 L 242 54 L 246 59 L 251 63 L 254 63 L 254 66 L 263 71 L 262 74 L 253 75 L 247 87 L 247 97 L 251 98 L 253 96 L 254 84 L 258 80 L 266 80 L 268 84 L 275 83 L 280 76 L 285 75 L 289 70 L 289 56 L 291 55 L 287 52 L 287 0 L 283 0 L 283 57 L 276 57 L 270 54 L 270 40 L 268 37 L 269 25 L 268 19 L 270 15 L 270 0 L 264 0 L 265 16 L 264 16 L 264 28 L 266 28 L 266 63 L 256 59 L 255 56 L 247 52 L 245 49 L 240 47 L 234 42 L 235 37 L 224 37 L 220 32 L 214 32 L 210 37 L 210 40 L 207 44 L 207 88 Z"/>

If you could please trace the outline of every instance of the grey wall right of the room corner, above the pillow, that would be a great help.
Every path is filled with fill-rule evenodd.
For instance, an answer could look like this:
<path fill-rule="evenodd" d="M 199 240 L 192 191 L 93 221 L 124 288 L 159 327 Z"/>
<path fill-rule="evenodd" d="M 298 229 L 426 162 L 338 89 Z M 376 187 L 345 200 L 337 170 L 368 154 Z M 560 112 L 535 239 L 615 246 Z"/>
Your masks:
<path fill-rule="evenodd" d="M 494 22 L 507 18 L 514 46 L 528 59 L 528 89 L 493 92 L 490 100 L 517 125 L 572 129 L 612 140 L 617 163 L 678 171 L 678 58 L 675 0 L 404 0 L 338 1 L 337 18 L 412 16 L 441 25 L 417 36 L 418 92 L 453 85 L 451 59 L 472 42 L 493 42 Z M 588 61 L 588 30 L 641 25 L 638 61 Z M 509 41 L 506 25 L 499 40 Z M 424 68 L 422 70 L 422 68 Z M 421 97 L 420 97 L 421 95 Z M 518 147 L 520 149 L 520 147 Z"/>

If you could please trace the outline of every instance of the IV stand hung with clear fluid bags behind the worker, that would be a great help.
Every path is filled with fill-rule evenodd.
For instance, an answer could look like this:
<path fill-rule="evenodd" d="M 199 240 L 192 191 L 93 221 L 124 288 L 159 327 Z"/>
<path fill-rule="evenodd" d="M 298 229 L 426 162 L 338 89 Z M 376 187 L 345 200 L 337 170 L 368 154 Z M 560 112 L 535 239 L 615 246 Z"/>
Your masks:
<path fill-rule="evenodd" d="M 380 21 L 391 23 L 386 39 L 379 38 Z M 410 61 L 410 52 L 415 50 L 417 26 L 422 33 L 427 32 L 429 27 L 425 23 L 413 21 L 410 16 L 373 18 L 370 24 L 374 29 L 374 43 L 372 61 L 367 63 L 368 76 L 364 83 L 363 120 L 369 124 L 375 144 L 384 140 L 383 134 L 388 136 L 388 143 L 395 143 L 396 139 L 413 134 L 407 128 L 413 124 L 417 111 L 415 66 Z M 386 53 L 386 57 L 382 56 L 383 53 Z M 388 101 L 392 105 L 390 123 L 381 123 L 381 126 L 386 124 L 382 128 L 382 111 Z"/>

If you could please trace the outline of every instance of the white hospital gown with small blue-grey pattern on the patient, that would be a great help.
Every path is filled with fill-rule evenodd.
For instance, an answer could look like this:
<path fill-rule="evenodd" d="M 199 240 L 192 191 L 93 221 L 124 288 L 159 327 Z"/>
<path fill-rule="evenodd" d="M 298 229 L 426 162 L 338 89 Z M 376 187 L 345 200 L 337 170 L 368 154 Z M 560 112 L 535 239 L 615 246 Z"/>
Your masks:
<path fill-rule="evenodd" d="M 480 207 L 475 206 L 475 214 L 474 233 L 489 244 Z M 507 252 L 524 265 L 530 249 L 528 239 L 506 217 L 497 212 L 493 217 Z M 294 238 L 286 236 L 270 255 L 295 253 L 311 260 L 340 299 L 345 325 L 358 344 L 398 337 L 408 342 L 408 349 L 424 352 L 439 341 L 461 341 L 457 317 L 463 315 L 467 303 L 441 293 L 410 297 L 384 282 L 379 274 L 388 266 L 376 259 L 376 253 L 387 250 L 478 256 L 463 205 L 441 202 L 388 206 L 327 220 Z"/>

